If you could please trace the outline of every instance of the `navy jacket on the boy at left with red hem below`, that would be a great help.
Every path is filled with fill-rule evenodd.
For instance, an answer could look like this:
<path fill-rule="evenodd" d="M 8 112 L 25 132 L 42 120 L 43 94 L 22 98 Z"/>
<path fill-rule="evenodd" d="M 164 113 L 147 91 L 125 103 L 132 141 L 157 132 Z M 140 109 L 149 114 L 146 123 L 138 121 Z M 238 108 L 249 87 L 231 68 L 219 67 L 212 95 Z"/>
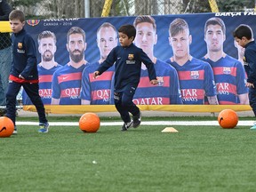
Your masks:
<path fill-rule="evenodd" d="M 21 75 L 26 80 L 38 79 L 36 45 L 24 28 L 17 34 L 12 33 L 11 75 Z"/>

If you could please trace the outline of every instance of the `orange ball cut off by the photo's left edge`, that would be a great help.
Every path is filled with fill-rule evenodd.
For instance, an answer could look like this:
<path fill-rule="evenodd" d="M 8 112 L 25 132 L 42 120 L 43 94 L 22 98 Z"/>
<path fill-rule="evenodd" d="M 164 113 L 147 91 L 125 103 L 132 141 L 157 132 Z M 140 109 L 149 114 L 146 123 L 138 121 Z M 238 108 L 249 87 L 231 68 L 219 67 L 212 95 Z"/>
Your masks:
<path fill-rule="evenodd" d="M 14 131 L 12 120 L 6 116 L 0 117 L 0 137 L 10 137 Z"/>

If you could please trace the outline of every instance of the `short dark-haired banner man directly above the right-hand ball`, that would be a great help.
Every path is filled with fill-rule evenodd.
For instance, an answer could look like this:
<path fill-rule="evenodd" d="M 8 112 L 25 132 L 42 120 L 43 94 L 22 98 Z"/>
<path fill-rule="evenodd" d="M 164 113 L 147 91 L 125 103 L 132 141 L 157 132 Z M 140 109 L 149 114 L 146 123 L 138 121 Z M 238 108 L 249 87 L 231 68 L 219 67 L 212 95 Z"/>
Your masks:
<path fill-rule="evenodd" d="M 226 27 L 220 18 L 210 18 L 204 25 L 207 53 L 202 60 L 212 66 L 217 85 L 218 100 L 222 105 L 249 104 L 243 64 L 223 52 Z"/>

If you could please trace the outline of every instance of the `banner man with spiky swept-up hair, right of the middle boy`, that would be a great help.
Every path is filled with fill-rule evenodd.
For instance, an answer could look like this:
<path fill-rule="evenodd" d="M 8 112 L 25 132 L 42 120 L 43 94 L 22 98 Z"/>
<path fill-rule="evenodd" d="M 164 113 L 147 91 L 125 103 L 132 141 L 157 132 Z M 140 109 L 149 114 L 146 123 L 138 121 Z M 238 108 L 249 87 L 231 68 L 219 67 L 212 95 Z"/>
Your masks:
<path fill-rule="evenodd" d="M 210 64 L 197 60 L 189 53 L 192 36 L 189 35 L 187 21 L 181 18 L 173 20 L 170 24 L 169 35 L 173 56 L 166 62 L 178 72 L 183 104 L 204 105 L 204 95 L 209 104 L 219 104 Z"/>

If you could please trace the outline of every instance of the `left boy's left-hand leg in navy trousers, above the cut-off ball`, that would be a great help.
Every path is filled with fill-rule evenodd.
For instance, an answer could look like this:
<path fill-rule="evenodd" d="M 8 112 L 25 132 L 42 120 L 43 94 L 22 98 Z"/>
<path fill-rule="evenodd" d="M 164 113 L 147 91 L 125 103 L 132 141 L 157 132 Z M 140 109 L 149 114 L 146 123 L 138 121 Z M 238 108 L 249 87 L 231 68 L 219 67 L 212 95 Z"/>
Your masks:
<path fill-rule="evenodd" d="M 18 84 L 16 82 L 9 83 L 8 90 L 6 92 L 6 116 L 12 119 L 14 125 L 16 121 L 16 97 L 18 92 L 20 92 L 21 85 L 22 84 Z"/>

